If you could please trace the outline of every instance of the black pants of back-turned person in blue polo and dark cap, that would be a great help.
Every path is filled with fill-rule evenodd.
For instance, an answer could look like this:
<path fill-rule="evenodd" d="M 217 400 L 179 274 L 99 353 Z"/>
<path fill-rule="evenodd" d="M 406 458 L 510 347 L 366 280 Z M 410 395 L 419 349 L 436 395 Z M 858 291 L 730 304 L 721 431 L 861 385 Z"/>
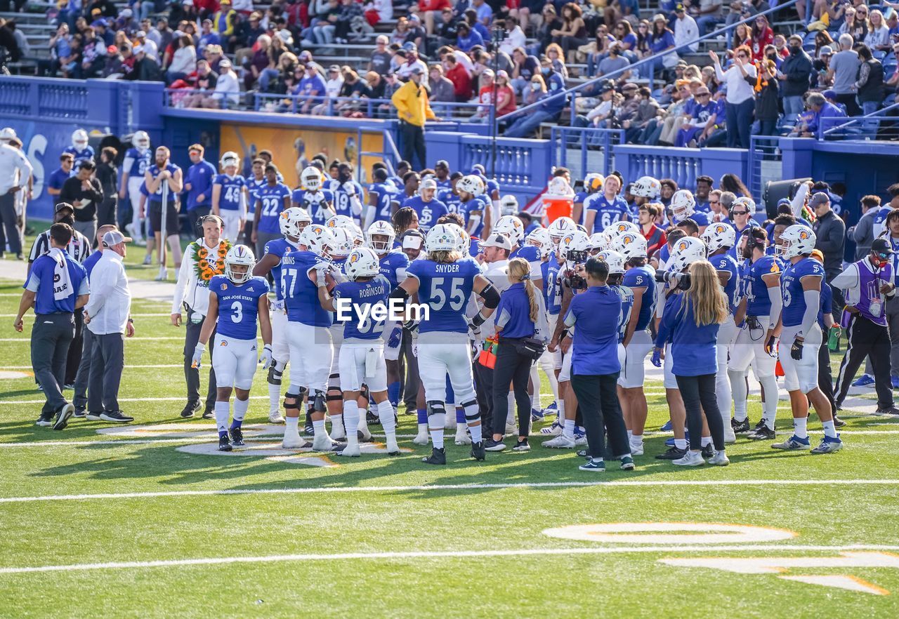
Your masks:
<path fill-rule="evenodd" d="M 609 433 L 612 455 L 630 455 L 628 429 L 624 425 L 618 400 L 618 377 L 618 372 L 571 376 L 571 387 L 577 396 L 577 405 L 583 417 L 583 428 L 587 430 L 587 451 L 597 460 L 602 459 L 606 452 L 603 429 Z M 714 377 L 712 375 L 713 379 Z"/>

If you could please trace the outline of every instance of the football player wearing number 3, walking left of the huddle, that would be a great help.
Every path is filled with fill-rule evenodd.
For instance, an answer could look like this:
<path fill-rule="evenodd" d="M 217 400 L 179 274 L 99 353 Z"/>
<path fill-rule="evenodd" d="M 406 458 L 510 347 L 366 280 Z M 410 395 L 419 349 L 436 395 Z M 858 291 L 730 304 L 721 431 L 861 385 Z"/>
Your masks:
<path fill-rule="evenodd" d="M 191 365 L 199 368 L 209 337 L 216 330 L 212 367 L 216 372 L 219 451 L 231 451 L 232 445 L 245 447 L 241 425 L 250 406 L 256 364 L 262 362 L 263 369 L 268 369 L 271 364 L 269 284 L 265 279 L 253 276 L 255 263 L 253 252 L 246 245 L 235 245 L 228 250 L 225 274 L 209 280 L 209 312 L 193 350 Z M 257 355 L 257 328 L 263 335 L 262 355 Z M 234 419 L 229 427 L 232 388 L 235 392 Z"/>

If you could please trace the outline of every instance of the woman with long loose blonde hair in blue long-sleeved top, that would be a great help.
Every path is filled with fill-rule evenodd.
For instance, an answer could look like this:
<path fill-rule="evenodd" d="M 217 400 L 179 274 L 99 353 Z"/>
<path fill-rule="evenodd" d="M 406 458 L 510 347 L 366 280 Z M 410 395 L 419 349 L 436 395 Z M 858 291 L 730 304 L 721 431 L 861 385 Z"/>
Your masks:
<path fill-rule="evenodd" d="M 727 319 L 727 296 L 709 261 L 693 262 L 688 272 L 690 287 L 665 307 L 655 338 L 654 362 L 665 343 L 671 341 L 672 373 L 687 409 L 690 437 L 702 436 L 702 413 L 705 411 L 716 450 L 708 463 L 726 466 L 729 460 L 725 455 L 724 421 L 715 395 L 715 376 L 718 327 Z M 694 443 L 690 445 L 690 451 L 672 460 L 672 464 L 697 466 L 706 461 L 700 454 L 699 445 Z"/>

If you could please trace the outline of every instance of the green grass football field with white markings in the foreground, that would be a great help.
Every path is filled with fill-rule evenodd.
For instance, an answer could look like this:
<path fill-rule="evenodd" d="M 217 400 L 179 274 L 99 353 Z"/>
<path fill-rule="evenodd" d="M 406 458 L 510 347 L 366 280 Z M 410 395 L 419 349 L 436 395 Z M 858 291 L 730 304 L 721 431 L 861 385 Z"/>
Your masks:
<path fill-rule="evenodd" d="M 610 463 L 583 473 L 574 453 L 539 437 L 530 454 L 484 463 L 449 440 L 449 463 L 427 467 L 430 447 L 412 444 L 415 418 L 401 410 L 398 458 L 270 457 L 253 455 L 280 447 L 264 433 L 260 371 L 245 423 L 262 433 L 247 431 L 242 454 L 208 455 L 197 452 L 215 443 L 212 423 L 185 428 L 178 415 L 182 331 L 161 303 L 132 310 L 120 393 L 132 426 L 33 425 L 42 397 L 30 376 L 33 318 L 22 334 L 12 327 L 20 290 L 0 285 L 4 617 L 899 616 L 897 420 L 844 411 L 838 454 L 739 438 L 730 466 L 691 470 L 654 459 L 670 436 L 656 431 L 635 472 Z M 658 430 L 663 388 L 646 391 L 647 429 Z M 809 428 L 816 443 L 814 417 Z M 627 523 L 763 528 L 712 539 L 683 524 L 636 539 L 545 533 L 641 528 Z"/>

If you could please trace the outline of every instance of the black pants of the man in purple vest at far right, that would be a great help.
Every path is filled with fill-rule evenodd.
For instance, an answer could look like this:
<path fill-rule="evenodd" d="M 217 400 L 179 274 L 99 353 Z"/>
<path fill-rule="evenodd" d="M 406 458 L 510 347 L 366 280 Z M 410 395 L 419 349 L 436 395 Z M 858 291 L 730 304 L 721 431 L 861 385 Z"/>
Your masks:
<path fill-rule="evenodd" d="M 849 394 L 849 387 L 855 373 L 866 357 L 871 359 L 874 369 L 874 389 L 877 391 L 877 408 L 893 406 L 893 383 L 890 379 L 890 333 L 886 326 L 872 323 L 860 314 L 852 316 L 846 330 L 849 345 L 840 362 L 837 375 L 836 403 L 841 405 Z"/>

